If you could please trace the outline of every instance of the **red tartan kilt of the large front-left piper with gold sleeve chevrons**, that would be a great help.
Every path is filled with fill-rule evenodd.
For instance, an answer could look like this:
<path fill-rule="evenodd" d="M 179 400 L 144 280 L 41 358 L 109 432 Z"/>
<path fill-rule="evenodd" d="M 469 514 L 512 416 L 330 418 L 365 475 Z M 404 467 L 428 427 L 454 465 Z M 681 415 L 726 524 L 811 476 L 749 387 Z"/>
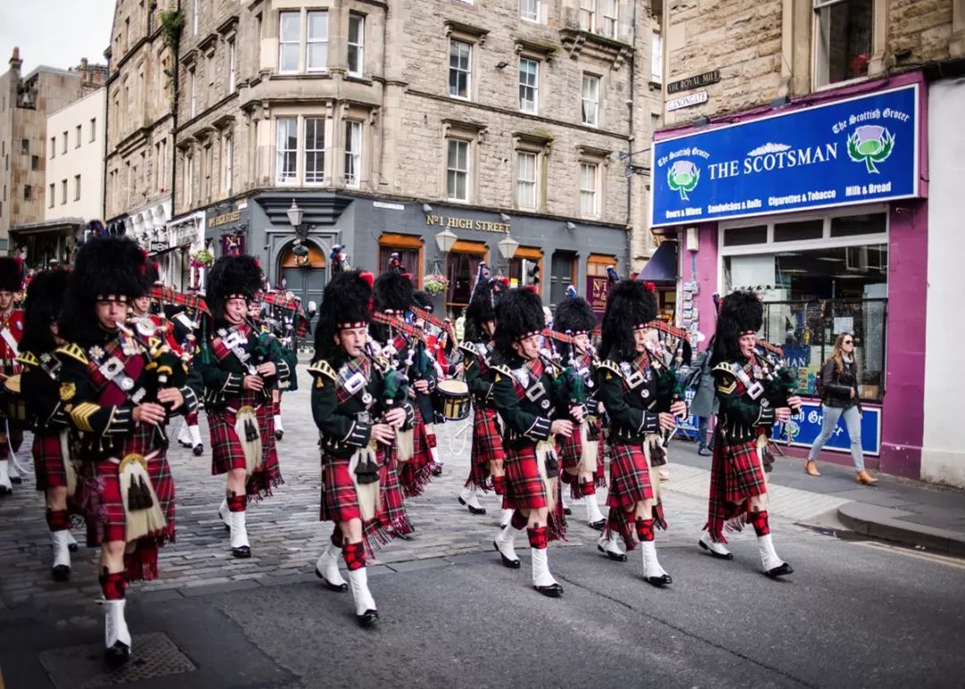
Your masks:
<path fill-rule="evenodd" d="M 124 448 L 116 458 L 125 455 L 150 455 L 153 427 L 138 424 L 124 439 Z M 83 477 L 77 486 L 77 504 L 87 522 L 87 544 L 91 547 L 110 541 L 126 540 L 124 502 L 121 497 L 119 466 L 110 459 L 85 461 Z M 167 527 L 155 534 L 138 538 L 132 553 L 124 553 L 128 581 L 157 578 L 157 549 L 175 539 L 175 482 L 163 450 L 148 461 L 148 475 L 157 494 Z"/>

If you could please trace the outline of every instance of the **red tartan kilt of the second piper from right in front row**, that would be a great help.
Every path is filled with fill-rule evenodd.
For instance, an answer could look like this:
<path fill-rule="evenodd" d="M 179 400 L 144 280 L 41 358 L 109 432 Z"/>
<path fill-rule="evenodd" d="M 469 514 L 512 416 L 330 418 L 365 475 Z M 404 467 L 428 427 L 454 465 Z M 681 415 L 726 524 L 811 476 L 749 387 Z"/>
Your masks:
<path fill-rule="evenodd" d="M 602 442 L 601 452 L 602 455 Z M 653 500 L 656 493 L 650 482 L 650 469 L 643 444 L 607 443 L 610 451 L 610 492 L 606 504 L 610 508 L 607 515 L 604 536 L 616 532 L 623 539 L 627 550 L 637 547 L 637 503 Z M 627 511 L 630 510 L 630 511 Z M 657 500 L 652 511 L 653 525 L 658 529 L 667 528 L 663 504 Z"/>

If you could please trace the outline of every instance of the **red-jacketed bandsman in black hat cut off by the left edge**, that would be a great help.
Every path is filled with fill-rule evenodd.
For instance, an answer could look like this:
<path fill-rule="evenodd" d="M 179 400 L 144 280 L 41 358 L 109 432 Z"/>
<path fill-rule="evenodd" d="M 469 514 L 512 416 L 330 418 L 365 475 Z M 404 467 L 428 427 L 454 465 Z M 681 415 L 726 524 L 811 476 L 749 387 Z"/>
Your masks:
<path fill-rule="evenodd" d="M 14 297 L 23 284 L 23 266 L 10 257 L 0 257 L 0 376 L 9 378 L 20 372 L 16 357 L 23 338 L 23 312 L 15 308 Z M 7 410 L 0 409 L 0 495 L 22 482 L 16 469 L 16 453 L 23 442 L 23 428 L 11 423 Z"/>

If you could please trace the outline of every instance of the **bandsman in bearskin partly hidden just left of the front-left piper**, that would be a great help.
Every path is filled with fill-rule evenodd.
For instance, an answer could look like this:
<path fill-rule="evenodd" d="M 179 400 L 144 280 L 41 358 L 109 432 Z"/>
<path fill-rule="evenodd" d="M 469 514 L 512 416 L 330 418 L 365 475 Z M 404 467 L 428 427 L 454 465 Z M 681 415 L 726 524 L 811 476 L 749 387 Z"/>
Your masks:
<path fill-rule="evenodd" d="M 44 270 L 30 282 L 24 302 L 24 332 L 17 361 L 23 367 L 19 388 L 33 429 L 37 489 L 46 500 L 47 528 L 53 546 L 50 573 L 55 581 L 70 578 L 70 552 L 77 542 L 70 535 L 70 514 L 77 513 L 74 495 L 77 466 L 70 454 L 69 423 L 60 399 L 60 362 L 55 350 L 64 344 L 57 319 L 61 315 L 69 273 Z"/>

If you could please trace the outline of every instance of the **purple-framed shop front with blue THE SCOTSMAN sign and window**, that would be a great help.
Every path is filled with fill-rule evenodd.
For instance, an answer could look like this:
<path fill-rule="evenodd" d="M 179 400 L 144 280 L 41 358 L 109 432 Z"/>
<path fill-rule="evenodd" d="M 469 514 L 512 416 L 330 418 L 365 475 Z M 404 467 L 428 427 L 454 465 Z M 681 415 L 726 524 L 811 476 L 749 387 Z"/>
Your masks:
<path fill-rule="evenodd" d="M 925 91 L 920 74 L 658 132 L 651 222 L 676 234 L 678 317 L 713 335 L 714 294 L 751 289 L 759 336 L 781 345 L 808 399 L 791 425 L 805 452 L 820 427 L 815 381 L 854 336 L 869 463 L 918 478 L 927 268 Z M 829 456 L 850 461 L 843 429 Z"/>

